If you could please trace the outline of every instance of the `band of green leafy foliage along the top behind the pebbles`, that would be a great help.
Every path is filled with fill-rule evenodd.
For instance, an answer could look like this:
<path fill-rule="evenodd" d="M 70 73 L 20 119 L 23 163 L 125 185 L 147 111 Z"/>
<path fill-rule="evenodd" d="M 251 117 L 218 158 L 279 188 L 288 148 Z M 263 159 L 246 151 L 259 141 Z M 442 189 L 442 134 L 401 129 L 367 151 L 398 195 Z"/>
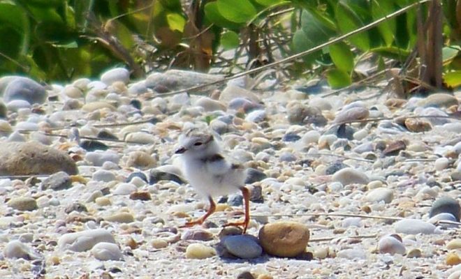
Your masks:
<path fill-rule="evenodd" d="M 115 63 L 140 75 L 142 66 L 151 66 L 153 61 L 207 70 L 218 50 L 240 53 L 252 46 L 258 51 L 265 47 L 261 42 L 272 42 L 275 34 L 286 36 L 277 49 L 288 56 L 355 31 L 415 1 L 193 0 L 185 7 L 180 0 L 0 0 L 0 36 L 8 41 L 0 43 L 0 75 L 71 80 L 100 75 Z M 459 85 L 461 27 L 457 15 L 461 10 L 455 0 L 442 2 L 447 43 L 444 78 L 450 86 Z M 290 7 L 294 9 L 270 17 Z M 423 12 L 427 14 L 425 5 Z M 285 20 L 279 21 L 281 17 Z M 268 24 L 271 20 L 272 25 Z M 255 33 L 256 38 L 249 36 Z M 362 54 L 379 56 L 383 68 L 384 59 L 405 61 L 416 39 L 414 9 L 303 56 L 292 70 L 316 68 L 331 86 L 347 86 L 357 77 L 354 66 Z M 260 54 L 251 53 L 254 57 L 249 59 Z"/>

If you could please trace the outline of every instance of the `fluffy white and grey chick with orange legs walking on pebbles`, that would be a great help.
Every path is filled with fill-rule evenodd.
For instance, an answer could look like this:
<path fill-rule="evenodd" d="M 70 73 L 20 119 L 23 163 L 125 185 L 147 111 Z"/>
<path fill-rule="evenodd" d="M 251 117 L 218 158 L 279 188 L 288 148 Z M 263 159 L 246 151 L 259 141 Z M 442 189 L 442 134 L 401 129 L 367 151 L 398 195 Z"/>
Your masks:
<path fill-rule="evenodd" d="M 231 163 L 222 153 L 213 135 L 206 130 L 191 128 L 180 135 L 180 146 L 175 153 L 182 154 L 183 173 L 198 194 L 206 197 L 210 208 L 204 216 L 190 221 L 184 227 L 202 224 L 216 209 L 213 198 L 242 191 L 245 218 L 242 222 L 224 226 L 242 226 L 247 232 L 249 223 L 249 190 L 244 187 L 246 171 L 242 165 Z"/>

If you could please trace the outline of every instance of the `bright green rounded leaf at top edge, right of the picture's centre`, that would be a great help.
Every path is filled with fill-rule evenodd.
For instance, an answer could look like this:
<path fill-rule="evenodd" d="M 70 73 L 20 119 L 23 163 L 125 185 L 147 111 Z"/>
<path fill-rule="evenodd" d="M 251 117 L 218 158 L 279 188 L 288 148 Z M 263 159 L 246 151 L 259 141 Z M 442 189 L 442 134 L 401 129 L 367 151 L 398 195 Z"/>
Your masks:
<path fill-rule="evenodd" d="M 231 22 L 249 22 L 256 15 L 256 8 L 249 0 L 217 0 L 219 13 Z"/>

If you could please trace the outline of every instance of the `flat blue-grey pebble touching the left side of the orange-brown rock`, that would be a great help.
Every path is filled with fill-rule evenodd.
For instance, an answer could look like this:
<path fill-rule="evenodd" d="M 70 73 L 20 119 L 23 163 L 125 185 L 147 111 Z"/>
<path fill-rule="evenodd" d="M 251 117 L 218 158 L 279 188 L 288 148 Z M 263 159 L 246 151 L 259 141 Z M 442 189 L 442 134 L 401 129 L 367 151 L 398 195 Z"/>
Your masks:
<path fill-rule="evenodd" d="M 241 259 L 253 259 L 261 256 L 263 252 L 258 239 L 248 234 L 226 236 L 223 243 L 228 252 Z"/>

